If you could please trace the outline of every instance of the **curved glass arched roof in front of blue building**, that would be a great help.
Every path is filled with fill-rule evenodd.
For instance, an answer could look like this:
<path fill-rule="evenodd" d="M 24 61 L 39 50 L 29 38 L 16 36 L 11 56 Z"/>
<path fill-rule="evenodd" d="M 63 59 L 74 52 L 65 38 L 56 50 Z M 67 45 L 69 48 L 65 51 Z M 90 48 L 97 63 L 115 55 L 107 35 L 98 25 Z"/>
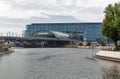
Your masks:
<path fill-rule="evenodd" d="M 57 31 L 48 31 L 41 30 L 32 33 L 32 37 L 43 37 L 43 38 L 69 38 L 69 34 L 57 32 Z"/>

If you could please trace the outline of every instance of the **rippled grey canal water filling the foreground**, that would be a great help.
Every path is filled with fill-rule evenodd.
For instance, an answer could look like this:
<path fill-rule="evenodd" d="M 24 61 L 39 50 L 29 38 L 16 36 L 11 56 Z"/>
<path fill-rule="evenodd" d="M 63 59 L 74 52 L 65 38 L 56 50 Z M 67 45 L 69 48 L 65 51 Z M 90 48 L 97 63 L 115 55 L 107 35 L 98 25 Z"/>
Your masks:
<path fill-rule="evenodd" d="M 0 79 L 120 78 L 120 63 L 93 58 L 98 49 L 14 49 L 0 56 Z"/>

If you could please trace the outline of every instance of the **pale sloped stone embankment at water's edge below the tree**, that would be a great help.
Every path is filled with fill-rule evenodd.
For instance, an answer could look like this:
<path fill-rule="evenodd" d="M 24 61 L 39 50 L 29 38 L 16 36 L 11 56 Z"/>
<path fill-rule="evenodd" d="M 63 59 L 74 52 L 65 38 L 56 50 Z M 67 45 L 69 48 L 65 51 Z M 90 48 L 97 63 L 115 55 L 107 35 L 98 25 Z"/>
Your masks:
<path fill-rule="evenodd" d="M 120 62 L 120 51 L 99 51 L 95 54 L 95 57 Z"/>

